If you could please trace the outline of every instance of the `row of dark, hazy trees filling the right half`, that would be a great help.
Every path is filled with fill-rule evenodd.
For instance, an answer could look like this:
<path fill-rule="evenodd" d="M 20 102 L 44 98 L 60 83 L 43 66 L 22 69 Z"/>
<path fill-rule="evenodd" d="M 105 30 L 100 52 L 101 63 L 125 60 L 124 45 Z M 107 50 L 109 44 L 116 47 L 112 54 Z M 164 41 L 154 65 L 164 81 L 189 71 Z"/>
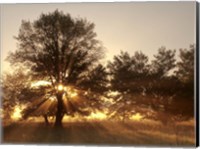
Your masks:
<path fill-rule="evenodd" d="M 127 52 L 115 56 L 108 65 L 112 75 L 111 88 L 122 94 L 113 98 L 115 102 L 110 110 L 111 113 L 117 112 L 111 114 L 112 117 L 126 119 L 138 112 L 146 118 L 163 121 L 159 113 L 164 112 L 171 115 L 172 120 L 190 119 L 194 103 L 193 49 L 194 46 L 189 51 L 180 50 L 181 61 L 177 65 L 175 50 L 166 50 L 165 47 L 158 49 L 151 64 L 141 52 L 132 57 Z M 181 76 L 188 78 L 189 83 L 184 83 Z"/>

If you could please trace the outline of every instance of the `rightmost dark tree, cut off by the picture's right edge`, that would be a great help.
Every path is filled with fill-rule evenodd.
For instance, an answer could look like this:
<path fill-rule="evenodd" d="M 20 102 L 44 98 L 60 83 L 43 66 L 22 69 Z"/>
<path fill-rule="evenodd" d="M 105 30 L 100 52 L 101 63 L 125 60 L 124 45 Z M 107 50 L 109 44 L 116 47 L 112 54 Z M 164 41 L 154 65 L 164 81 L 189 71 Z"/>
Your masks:
<path fill-rule="evenodd" d="M 190 45 L 189 49 L 180 49 L 180 60 L 177 62 L 176 76 L 181 82 L 179 96 L 185 101 L 185 114 L 193 115 L 194 108 L 194 62 L 195 62 L 195 45 Z M 186 106 L 186 105 L 191 106 Z"/>

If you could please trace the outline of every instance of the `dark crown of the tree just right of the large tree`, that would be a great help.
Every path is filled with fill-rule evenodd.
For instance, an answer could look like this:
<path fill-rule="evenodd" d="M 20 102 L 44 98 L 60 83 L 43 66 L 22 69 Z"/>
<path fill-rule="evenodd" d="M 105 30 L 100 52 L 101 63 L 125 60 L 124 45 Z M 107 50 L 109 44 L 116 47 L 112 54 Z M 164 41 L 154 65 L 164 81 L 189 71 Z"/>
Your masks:
<path fill-rule="evenodd" d="M 135 52 L 132 57 L 127 52 L 121 52 L 114 56 L 113 62 L 109 62 L 108 68 L 112 75 L 113 89 L 137 91 L 144 86 L 149 74 L 148 57 L 142 52 Z"/>

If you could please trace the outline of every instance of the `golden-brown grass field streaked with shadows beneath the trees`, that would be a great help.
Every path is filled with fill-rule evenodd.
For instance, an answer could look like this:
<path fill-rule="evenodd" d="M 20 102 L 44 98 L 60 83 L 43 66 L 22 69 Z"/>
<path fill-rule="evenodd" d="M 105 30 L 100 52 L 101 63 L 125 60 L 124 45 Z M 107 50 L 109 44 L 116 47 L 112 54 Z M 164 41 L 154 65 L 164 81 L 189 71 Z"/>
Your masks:
<path fill-rule="evenodd" d="M 194 146 L 192 122 L 162 125 L 142 121 L 65 122 L 64 128 L 18 122 L 3 128 L 4 144 Z"/>

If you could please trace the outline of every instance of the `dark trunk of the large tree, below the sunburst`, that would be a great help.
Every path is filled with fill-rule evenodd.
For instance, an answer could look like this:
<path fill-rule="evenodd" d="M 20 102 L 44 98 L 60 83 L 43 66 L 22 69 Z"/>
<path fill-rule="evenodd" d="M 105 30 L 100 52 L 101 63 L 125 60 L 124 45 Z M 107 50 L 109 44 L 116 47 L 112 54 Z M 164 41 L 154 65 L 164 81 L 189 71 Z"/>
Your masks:
<path fill-rule="evenodd" d="M 63 101 L 62 101 L 62 93 L 57 94 L 57 111 L 56 111 L 56 121 L 55 127 L 62 127 L 62 118 L 63 118 Z"/>

